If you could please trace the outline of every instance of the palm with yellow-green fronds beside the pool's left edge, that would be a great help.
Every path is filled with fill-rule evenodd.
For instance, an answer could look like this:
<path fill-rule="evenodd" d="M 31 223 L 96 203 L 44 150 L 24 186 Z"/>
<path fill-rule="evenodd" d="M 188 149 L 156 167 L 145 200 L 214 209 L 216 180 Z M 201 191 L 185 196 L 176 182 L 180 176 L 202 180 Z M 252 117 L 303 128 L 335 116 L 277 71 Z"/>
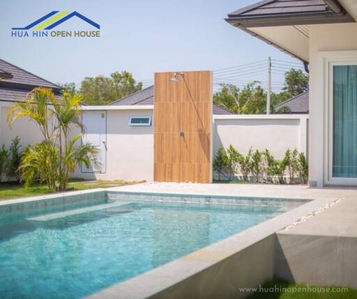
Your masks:
<path fill-rule="evenodd" d="M 12 125 L 18 118 L 27 117 L 36 122 L 43 141 L 32 144 L 22 154 L 20 171 L 25 185 L 35 178 L 47 183 L 51 191 L 66 190 L 68 176 L 84 163 L 96 162 L 97 150 L 91 144 L 80 144 L 81 135 L 69 139 L 73 128 L 84 131 L 80 117 L 80 95 L 63 93 L 56 98 L 52 90 L 33 89 L 23 102 L 10 107 L 7 118 Z"/>

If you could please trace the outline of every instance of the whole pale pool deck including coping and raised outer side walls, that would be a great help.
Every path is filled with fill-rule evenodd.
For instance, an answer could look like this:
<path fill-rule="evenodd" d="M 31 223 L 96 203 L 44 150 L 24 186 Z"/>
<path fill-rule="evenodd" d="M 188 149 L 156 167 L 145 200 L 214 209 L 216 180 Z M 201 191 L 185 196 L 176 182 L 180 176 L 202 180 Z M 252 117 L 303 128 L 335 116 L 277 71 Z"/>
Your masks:
<path fill-rule="evenodd" d="M 274 276 L 357 287 L 357 189 L 144 183 L 109 190 L 311 201 L 89 298 L 244 298 L 239 288 Z"/>

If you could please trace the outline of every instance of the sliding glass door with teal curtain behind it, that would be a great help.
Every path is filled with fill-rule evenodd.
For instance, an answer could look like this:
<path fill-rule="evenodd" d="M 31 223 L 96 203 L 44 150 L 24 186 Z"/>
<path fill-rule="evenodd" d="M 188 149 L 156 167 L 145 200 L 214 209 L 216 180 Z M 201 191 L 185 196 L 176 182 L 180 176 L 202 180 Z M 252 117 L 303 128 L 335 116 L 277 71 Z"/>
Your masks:
<path fill-rule="evenodd" d="M 357 182 L 357 63 L 331 63 L 329 181 Z"/>

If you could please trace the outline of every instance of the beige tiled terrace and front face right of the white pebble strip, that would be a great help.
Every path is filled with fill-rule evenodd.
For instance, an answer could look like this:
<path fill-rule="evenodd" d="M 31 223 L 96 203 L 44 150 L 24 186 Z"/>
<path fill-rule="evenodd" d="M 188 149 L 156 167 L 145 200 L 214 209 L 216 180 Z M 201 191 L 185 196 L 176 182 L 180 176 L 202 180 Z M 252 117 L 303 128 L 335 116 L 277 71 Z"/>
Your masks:
<path fill-rule="evenodd" d="M 357 288 L 357 197 L 277 233 L 275 273 L 310 284 Z"/>

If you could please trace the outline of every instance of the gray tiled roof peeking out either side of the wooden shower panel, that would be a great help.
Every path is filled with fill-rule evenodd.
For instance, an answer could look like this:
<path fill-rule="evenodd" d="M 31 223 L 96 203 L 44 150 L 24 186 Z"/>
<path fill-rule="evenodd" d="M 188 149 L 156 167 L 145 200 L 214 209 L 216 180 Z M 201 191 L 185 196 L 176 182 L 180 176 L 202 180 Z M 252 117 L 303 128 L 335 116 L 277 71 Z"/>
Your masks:
<path fill-rule="evenodd" d="M 146 89 L 142 89 L 141 91 L 137 91 L 136 93 L 132 93 L 131 95 L 126 96 L 125 98 L 121 98 L 116 100 L 115 102 L 111 102 L 108 105 L 153 105 L 153 86 L 149 86 Z M 213 114 L 233 114 L 227 109 L 220 107 L 213 103 Z"/>

